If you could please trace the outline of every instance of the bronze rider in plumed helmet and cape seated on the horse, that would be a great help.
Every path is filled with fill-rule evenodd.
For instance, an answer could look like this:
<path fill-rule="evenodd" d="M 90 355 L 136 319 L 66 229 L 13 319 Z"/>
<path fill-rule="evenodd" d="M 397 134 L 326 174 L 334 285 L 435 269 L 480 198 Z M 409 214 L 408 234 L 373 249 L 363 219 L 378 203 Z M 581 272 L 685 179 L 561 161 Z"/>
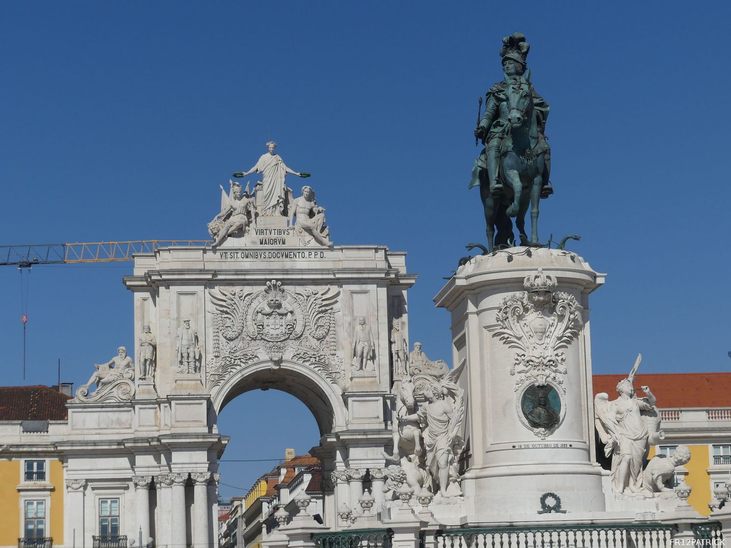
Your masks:
<path fill-rule="evenodd" d="M 508 118 L 509 108 L 507 107 L 507 97 L 505 96 L 507 88 L 506 80 L 510 80 L 512 77 L 520 78 L 526 72 L 526 57 L 530 48 L 531 45 L 526 42 L 526 37 L 519 32 L 503 39 L 500 56 L 502 58 L 505 78 L 501 82 L 493 85 L 486 94 L 485 115 L 482 116 L 480 125 L 474 130 L 474 136 L 482 139 L 485 148 L 474 161 L 472 177 L 469 184 L 470 189 L 473 186 L 480 186 L 480 171 L 487 170 L 491 194 L 497 195 L 503 190 L 502 180 L 499 177 L 500 156 L 504 153 L 503 144 L 510 129 L 510 120 Z M 545 143 L 544 133 L 549 107 L 548 103 L 535 90 L 533 91 L 533 102 L 537 117 L 539 140 L 543 142 L 542 144 L 545 147 L 545 172 L 543 174 L 541 197 L 547 198 L 553 194 L 553 188 L 548 180 L 550 173 L 550 148 L 548 148 L 548 143 Z"/>

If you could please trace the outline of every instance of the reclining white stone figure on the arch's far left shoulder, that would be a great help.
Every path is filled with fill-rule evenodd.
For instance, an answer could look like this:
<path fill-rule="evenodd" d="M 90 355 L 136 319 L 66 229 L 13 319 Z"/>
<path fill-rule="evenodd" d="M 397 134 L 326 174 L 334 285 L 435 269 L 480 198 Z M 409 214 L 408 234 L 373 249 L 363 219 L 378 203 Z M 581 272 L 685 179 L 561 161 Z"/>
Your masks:
<path fill-rule="evenodd" d="M 94 364 L 96 371 L 89 378 L 88 383 L 82 384 L 76 390 L 73 403 L 102 402 L 102 401 L 129 401 L 135 395 L 135 364 L 127 356 L 127 349 L 120 346 L 117 355 L 107 363 Z M 96 383 L 94 392 L 88 391 Z"/>

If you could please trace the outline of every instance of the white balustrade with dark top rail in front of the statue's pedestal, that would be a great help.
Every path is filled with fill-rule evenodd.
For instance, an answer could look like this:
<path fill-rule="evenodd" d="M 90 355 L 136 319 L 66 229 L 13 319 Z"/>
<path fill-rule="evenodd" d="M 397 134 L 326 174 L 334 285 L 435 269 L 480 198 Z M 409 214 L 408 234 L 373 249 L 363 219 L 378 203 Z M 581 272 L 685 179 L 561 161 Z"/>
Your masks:
<path fill-rule="evenodd" d="M 545 525 L 440 530 L 437 548 L 668 548 L 673 525 Z"/>

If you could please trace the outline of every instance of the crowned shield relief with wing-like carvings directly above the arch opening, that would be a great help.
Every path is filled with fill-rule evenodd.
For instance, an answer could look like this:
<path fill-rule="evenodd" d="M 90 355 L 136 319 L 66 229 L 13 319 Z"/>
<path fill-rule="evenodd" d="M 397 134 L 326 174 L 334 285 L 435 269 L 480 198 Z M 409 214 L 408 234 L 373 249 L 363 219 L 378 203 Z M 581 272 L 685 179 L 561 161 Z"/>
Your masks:
<path fill-rule="evenodd" d="M 293 291 L 276 280 L 268 281 L 260 291 L 212 289 L 213 357 L 206 375 L 208 388 L 218 387 L 250 363 L 269 359 L 276 369 L 285 358 L 341 385 L 343 357 L 335 333 L 339 294 L 339 289 L 330 286 Z"/>

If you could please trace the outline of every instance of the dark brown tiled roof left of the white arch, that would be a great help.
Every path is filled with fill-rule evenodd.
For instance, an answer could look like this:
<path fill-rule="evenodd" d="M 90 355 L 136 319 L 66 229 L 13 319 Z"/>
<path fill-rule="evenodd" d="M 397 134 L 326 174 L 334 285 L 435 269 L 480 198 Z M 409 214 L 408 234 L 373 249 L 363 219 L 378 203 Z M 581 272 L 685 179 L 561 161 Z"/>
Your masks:
<path fill-rule="evenodd" d="M 66 402 L 71 397 L 44 386 L 0 387 L 0 420 L 67 420 Z"/>

